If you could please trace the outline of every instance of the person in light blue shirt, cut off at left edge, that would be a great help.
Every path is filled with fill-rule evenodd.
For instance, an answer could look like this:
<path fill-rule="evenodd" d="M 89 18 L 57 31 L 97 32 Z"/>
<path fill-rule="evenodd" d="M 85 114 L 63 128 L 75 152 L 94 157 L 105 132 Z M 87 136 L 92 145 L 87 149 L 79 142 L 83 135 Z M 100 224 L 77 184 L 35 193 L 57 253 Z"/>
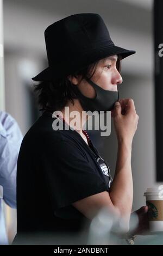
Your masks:
<path fill-rule="evenodd" d="M 16 208 L 16 167 L 22 133 L 15 119 L 0 111 L 0 245 L 8 244 L 3 202 Z"/>

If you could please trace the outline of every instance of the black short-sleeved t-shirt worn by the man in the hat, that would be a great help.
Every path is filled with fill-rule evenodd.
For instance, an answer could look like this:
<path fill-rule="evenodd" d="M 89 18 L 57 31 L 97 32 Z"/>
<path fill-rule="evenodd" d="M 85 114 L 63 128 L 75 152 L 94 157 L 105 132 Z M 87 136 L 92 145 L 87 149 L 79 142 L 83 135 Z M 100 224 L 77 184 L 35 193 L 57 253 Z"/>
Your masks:
<path fill-rule="evenodd" d="M 90 220 L 73 202 L 109 191 L 110 170 L 75 130 L 54 131 L 43 112 L 23 138 L 17 162 L 17 232 L 80 231 Z M 65 123 L 64 123 L 65 124 Z"/>

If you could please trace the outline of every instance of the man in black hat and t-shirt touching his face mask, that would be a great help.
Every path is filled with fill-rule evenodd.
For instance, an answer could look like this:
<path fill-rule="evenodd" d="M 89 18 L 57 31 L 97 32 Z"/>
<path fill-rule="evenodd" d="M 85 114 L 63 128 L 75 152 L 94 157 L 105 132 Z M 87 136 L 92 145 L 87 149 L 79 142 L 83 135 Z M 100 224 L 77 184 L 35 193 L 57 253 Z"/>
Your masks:
<path fill-rule="evenodd" d="M 24 137 L 17 163 L 17 234 L 79 234 L 106 206 L 124 217 L 128 230 L 131 145 L 139 117 L 132 99 L 118 101 L 117 86 L 121 59 L 135 51 L 115 46 L 98 14 L 59 20 L 46 29 L 45 40 L 49 66 L 33 78 L 41 82 L 35 90 L 43 114 Z M 79 113 L 77 126 L 73 111 Z M 114 180 L 82 129 L 87 111 L 112 111 L 118 140 Z M 64 129 L 56 129 L 56 121 Z"/>

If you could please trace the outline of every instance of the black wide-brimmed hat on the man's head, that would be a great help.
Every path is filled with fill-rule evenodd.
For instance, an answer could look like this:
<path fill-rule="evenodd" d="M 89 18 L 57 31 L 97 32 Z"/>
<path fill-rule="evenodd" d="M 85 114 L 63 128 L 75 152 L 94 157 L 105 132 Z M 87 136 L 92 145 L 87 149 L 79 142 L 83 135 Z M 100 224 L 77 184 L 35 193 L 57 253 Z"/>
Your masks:
<path fill-rule="evenodd" d="M 45 30 L 48 68 L 34 81 L 53 81 L 73 74 L 97 60 L 114 54 L 134 54 L 114 45 L 99 14 L 74 14 L 54 22 Z"/>

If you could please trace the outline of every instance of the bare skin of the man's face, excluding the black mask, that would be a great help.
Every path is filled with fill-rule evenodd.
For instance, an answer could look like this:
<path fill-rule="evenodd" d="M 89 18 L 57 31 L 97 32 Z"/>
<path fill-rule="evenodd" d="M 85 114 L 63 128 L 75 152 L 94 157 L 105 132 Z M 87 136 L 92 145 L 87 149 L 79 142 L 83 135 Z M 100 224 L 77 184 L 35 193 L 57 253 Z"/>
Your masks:
<path fill-rule="evenodd" d="M 122 83 L 122 77 L 116 68 L 116 62 L 117 55 L 100 60 L 91 80 L 105 90 L 117 91 L 117 84 Z M 85 80 L 78 84 L 78 88 L 87 97 L 96 96 L 95 89 Z"/>

